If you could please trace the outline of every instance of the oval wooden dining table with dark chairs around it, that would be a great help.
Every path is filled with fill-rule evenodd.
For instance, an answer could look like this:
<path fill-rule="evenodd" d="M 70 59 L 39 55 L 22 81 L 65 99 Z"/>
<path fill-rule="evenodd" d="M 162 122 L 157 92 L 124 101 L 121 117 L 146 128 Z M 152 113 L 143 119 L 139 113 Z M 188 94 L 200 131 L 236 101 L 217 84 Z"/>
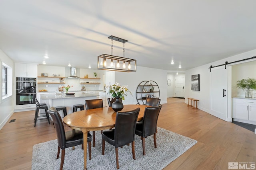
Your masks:
<path fill-rule="evenodd" d="M 145 105 L 124 105 L 122 111 L 131 111 L 138 107 L 140 113 L 137 120 L 140 121 L 144 115 Z M 116 112 L 111 107 L 76 111 L 66 115 L 63 122 L 70 128 L 80 130 L 84 134 L 84 169 L 86 170 L 88 131 L 100 131 L 115 127 Z"/>

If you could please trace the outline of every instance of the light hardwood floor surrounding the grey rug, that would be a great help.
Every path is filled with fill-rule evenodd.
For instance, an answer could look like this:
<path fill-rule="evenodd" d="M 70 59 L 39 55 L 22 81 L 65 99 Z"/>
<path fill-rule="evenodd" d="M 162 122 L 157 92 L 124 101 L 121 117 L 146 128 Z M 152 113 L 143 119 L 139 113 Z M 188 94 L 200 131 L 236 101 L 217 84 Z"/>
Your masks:
<path fill-rule="evenodd" d="M 33 146 L 56 139 L 56 131 L 46 120 L 34 127 L 34 111 L 17 112 L 10 119 L 16 121 L 9 120 L 0 130 L 0 169 L 30 170 Z M 158 127 L 198 141 L 165 170 L 227 170 L 228 162 L 256 162 L 256 134 L 187 107 L 184 99 L 168 98 L 160 111 Z"/>

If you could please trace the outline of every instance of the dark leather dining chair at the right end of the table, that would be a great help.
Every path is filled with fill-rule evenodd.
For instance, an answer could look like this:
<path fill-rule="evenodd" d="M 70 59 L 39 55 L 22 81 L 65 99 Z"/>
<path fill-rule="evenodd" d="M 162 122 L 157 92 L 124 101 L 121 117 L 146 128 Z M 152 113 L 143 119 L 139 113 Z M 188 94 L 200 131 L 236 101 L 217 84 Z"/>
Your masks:
<path fill-rule="evenodd" d="M 146 155 L 145 151 L 145 138 L 154 134 L 154 145 L 156 146 L 156 125 L 158 115 L 162 105 L 156 107 L 146 107 L 144 111 L 143 121 L 136 124 L 135 134 L 142 137 L 142 150 L 143 155 Z"/>

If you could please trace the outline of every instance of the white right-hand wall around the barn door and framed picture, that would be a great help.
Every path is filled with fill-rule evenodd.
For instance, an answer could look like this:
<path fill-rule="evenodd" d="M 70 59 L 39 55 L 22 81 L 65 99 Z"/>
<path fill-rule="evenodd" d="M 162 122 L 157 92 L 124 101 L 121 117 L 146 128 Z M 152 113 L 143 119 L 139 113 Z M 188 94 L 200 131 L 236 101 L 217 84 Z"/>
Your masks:
<path fill-rule="evenodd" d="M 206 111 L 206 112 L 210 112 L 210 65 L 212 66 L 216 66 L 216 65 L 220 65 L 220 64 L 225 64 L 225 61 L 230 62 L 234 62 L 234 61 L 239 61 L 242 59 L 247 59 L 250 57 L 256 56 L 256 50 L 252 50 L 252 51 L 248 51 L 246 53 L 242 53 L 242 54 L 238 54 L 238 55 L 234 55 L 232 57 L 228 57 L 226 59 L 222 59 L 213 63 L 209 63 L 209 64 L 205 64 L 202 66 L 198 66 L 196 68 L 192 68 L 190 70 L 186 70 L 186 91 L 185 91 L 185 99 L 186 98 L 196 98 L 199 100 L 198 102 L 198 108 Z M 250 61 L 255 61 L 250 60 Z M 248 61 L 246 61 L 248 62 Z M 238 64 L 238 63 L 236 63 Z M 231 64 L 230 64 L 231 65 Z M 233 64 L 234 65 L 234 64 Z M 223 66 L 224 67 L 224 66 Z M 253 70 L 251 70 L 253 71 Z M 200 74 L 200 91 L 192 91 L 191 90 L 191 75 L 194 74 Z M 233 75 L 233 73 L 231 74 L 231 72 L 228 73 L 228 76 Z M 220 75 L 221 76 L 221 75 Z M 231 80 L 231 78 L 229 78 Z M 230 96 L 230 98 L 228 98 L 228 108 L 230 108 L 231 106 L 231 95 L 230 93 L 232 92 L 231 90 L 231 81 L 228 82 L 228 90 L 227 90 L 227 94 L 228 96 Z M 185 103 L 188 103 L 187 100 L 185 100 Z M 230 114 L 230 113 L 228 113 Z"/>

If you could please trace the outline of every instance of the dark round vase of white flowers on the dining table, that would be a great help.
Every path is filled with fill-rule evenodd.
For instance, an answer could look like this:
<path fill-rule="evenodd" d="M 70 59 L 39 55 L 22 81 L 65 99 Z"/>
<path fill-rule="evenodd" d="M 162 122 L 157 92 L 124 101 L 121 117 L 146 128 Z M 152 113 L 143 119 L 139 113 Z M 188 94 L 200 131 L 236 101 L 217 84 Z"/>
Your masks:
<path fill-rule="evenodd" d="M 107 86 L 108 94 L 111 96 L 110 100 L 112 98 L 116 98 L 116 101 L 112 103 L 112 109 L 114 111 L 121 111 L 124 108 L 124 105 L 122 102 L 120 102 L 119 98 L 124 101 L 125 97 L 127 96 L 127 92 L 130 92 L 127 88 L 127 86 L 120 86 L 119 83 Z M 130 92 L 132 95 L 132 93 Z"/>

